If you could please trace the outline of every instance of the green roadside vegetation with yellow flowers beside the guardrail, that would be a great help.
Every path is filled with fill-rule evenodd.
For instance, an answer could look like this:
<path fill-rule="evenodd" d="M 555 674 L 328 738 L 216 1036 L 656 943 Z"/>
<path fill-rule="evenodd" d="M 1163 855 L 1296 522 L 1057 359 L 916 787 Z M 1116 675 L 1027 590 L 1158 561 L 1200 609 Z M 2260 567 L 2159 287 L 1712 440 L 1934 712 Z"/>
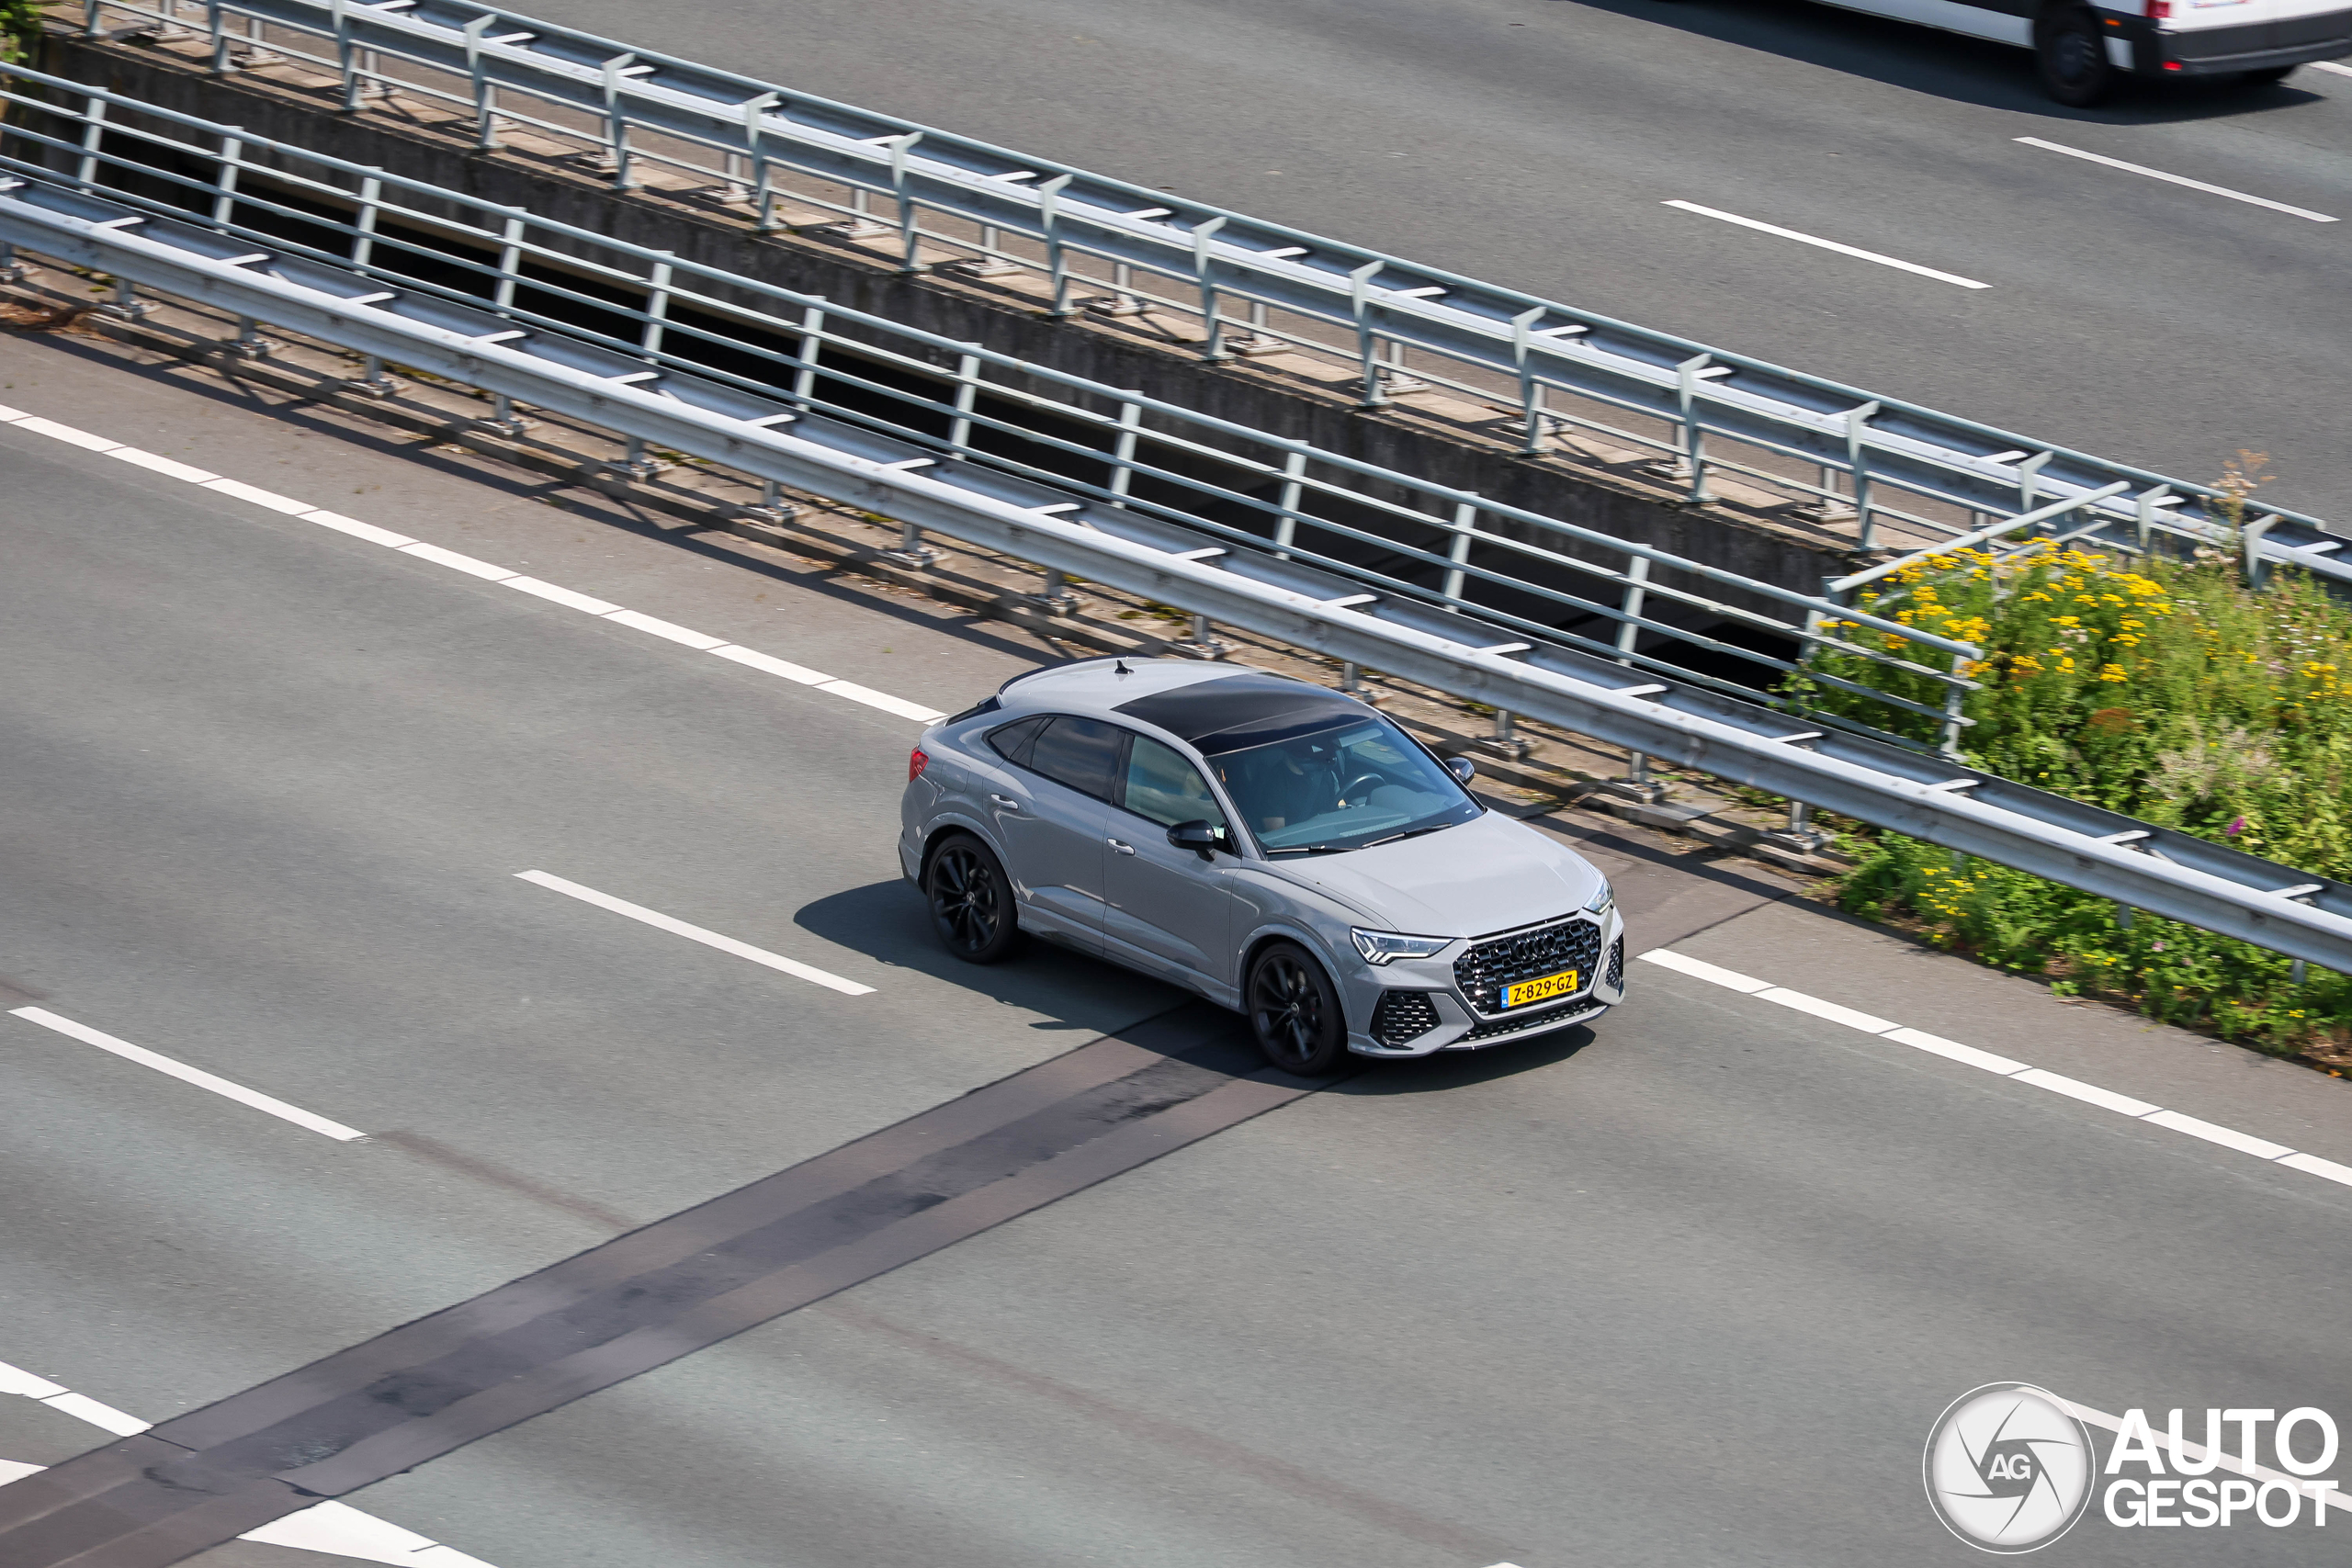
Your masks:
<path fill-rule="evenodd" d="M 2232 465 L 2232 496 L 2258 461 Z M 1971 764 L 2324 877 L 2352 877 L 2352 607 L 2307 574 L 2260 590 L 2237 559 L 2117 562 L 2042 545 L 1959 550 L 1884 578 L 1856 609 L 1985 649 L 1964 672 Z M 1867 635 L 1846 623 L 1846 637 Z M 1889 637 L 1889 642 L 1896 642 Z M 1816 668 L 1924 701 L 1884 665 Z M 1809 703 L 1884 722 L 1867 698 Z M 1922 736 L 1924 738 L 1924 736 Z M 2352 1063 L 2352 978 L 1893 832 L 1844 839 L 1839 905 L 1917 926 L 2060 994 L 2138 1006 L 2277 1053 Z"/>

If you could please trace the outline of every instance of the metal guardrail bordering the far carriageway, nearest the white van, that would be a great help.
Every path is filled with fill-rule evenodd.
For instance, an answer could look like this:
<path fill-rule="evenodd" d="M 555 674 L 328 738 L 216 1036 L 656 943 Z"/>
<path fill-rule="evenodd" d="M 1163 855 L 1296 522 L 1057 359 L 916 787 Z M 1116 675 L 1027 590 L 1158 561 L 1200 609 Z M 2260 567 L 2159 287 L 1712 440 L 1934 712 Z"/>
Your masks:
<path fill-rule="evenodd" d="M 343 108 L 435 101 L 485 148 L 539 136 L 619 188 L 703 188 L 762 230 L 807 214 L 887 240 L 906 270 L 1042 273 L 1054 313 L 1188 320 L 1207 360 L 1341 360 L 1371 407 L 1425 388 L 1472 397 L 1508 409 L 1529 454 L 1562 433 L 1653 451 L 1693 503 L 1729 475 L 1851 520 L 1863 548 L 1882 534 L 1933 545 L 2107 491 L 2084 527 L 2110 538 L 2244 545 L 2352 581 L 2314 517 L 2270 510 L 2246 543 L 2211 487 L 468 0 L 85 0 L 82 19 L 89 35 L 134 19 L 113 33 L 200 40 L 223 73 L 306 63 Z"/>

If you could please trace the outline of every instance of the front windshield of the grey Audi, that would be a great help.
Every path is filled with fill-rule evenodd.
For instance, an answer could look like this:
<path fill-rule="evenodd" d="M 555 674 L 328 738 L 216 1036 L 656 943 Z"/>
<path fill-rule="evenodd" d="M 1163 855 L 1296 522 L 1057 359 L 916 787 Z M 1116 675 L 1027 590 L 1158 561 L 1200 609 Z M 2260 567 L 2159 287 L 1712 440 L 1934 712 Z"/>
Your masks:
<path fill-rule="evenodd" d="M 1482 806 L 1385 717 L 1209 757 L 1270 856 L 1364 849 L 1468 823 Z"/>

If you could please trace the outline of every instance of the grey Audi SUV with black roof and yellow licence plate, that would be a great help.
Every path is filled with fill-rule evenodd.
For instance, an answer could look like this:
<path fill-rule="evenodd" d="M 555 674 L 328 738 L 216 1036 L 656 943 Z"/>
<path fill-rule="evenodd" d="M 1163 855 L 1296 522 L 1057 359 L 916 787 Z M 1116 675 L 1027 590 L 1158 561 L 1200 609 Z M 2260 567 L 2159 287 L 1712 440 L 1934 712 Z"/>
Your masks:
<path fill-rule="evenodd" d="M 1308 682 L 1084 658 L 924 731 L 898 863 L 960 959 L 1021 931 L 1108 957 L 1298 1074 L 1597 1018 L 1625 997 L 1609 882 L 1470 773 Z"/>

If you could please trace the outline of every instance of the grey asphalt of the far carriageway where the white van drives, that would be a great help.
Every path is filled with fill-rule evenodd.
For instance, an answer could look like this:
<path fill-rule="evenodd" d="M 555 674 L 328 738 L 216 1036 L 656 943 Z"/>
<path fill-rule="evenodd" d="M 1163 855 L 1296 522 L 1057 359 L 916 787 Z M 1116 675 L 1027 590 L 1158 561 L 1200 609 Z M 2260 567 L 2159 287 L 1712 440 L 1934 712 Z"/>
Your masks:
<path fill-rule="evenodd" d="M 529 9 L 2183 480 L 2267 451 L 2352 524 L 2352 75 L 2070 110 L 2023 49 L 1802 0 Z"/>

